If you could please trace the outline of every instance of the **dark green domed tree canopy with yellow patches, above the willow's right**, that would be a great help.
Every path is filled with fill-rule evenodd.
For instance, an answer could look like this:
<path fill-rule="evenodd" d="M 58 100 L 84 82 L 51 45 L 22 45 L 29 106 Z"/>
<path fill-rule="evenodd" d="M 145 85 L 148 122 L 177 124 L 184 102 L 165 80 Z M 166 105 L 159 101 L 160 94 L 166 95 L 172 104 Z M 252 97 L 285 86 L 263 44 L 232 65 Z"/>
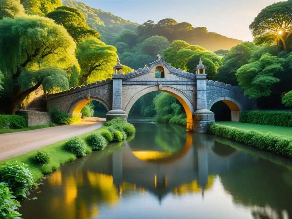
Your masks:
<path fill-rule="evenodd" d="M 76 43 L 91 37 L 100 39 L 100 34 L 88 27 L 83 13 L 76 8 L 61 6 L 46 16 L 53 19 L 56 24 L 63 25 Z"/>

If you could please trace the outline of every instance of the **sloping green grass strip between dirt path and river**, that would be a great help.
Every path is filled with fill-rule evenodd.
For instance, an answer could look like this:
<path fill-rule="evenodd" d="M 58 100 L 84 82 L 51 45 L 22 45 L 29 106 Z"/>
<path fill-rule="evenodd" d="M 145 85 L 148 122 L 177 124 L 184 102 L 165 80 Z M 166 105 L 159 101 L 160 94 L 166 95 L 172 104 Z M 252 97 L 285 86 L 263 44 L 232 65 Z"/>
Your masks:
<path fill-rule="evenodd" d="M 107 127 L 102 126 L 101 128 L 99 128 L 97 130 L 88 132 L 84 135 L 79 135 L 78 137 L 85 140 L 86 137 L 88 135 L 90 135 L 91 133 L 101 132 L 101 131 L 104 131 L 106 129 L 107 129 Z M 4 162 L 11 162 L 11 161 L 16 161 L 16 160 L 23 162 L 23 163 L 26 163 L 29 165 L 30 171 L 32 171 L 34 180 L 39 180 L 40 178 L 43 177 L 43 174 L 51 173 L 54 170 L 58 169 L 61 165 L 72 162 L 72 161 L 77 159 L 77 157 L 74 154 L 65 150 L 65 142 L 66 141 L 67 140 L 62 140 L 62 141 L 59 141 L 59 142 L 56 142 L 54 144 L 47 145 L 47 146 L 44 146 L 44 147 L 38 149 L 38 150 L 45 150 L 46 152 L 48 152 L 48 154 L 50 154 L 49 164 L 46 164 L 43 166 L 38 166 L 38 165 L 34 164 L 34 162 L 32 161 L 32 157 L 38 150 L 34 150 L 34 151 L 28 152 L 26 154 L 22 154 L 18 157 L 13 157 L 13 158 L 5 160 L 5 161 L 0 161 L 0 164 L 4 163 Z M 86 150 L 87 154 L 90 154 L 92 152 L 91 148 L 88 145 L 86 146 L 86 149 L 87 149 Z"/>

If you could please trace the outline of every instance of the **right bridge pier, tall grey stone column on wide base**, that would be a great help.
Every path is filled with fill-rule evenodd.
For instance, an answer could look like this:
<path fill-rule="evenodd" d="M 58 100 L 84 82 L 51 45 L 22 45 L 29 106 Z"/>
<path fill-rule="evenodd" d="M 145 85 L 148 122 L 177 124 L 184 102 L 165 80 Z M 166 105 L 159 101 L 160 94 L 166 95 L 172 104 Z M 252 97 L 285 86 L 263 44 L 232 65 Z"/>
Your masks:
<path fill-rule="evenodd" d="M 215 123 L 214 113 L 207 109 L 206 74 L 197 74 L 196 102 L 197 110 L 193 114 L 195 133 L 207 133 L 208 124 Z"/>

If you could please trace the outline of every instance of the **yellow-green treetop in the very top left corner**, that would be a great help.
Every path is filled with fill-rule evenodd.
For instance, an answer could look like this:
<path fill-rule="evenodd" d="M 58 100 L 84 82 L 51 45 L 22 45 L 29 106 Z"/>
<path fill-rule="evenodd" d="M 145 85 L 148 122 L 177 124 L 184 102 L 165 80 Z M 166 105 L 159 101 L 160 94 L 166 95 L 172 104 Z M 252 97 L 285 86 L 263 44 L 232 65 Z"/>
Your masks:
<path fill-rule="evenodd" d="M 0 20 L 24 14 L 24 8 L 20 4 L 20 0 L 0 0 Z"/>

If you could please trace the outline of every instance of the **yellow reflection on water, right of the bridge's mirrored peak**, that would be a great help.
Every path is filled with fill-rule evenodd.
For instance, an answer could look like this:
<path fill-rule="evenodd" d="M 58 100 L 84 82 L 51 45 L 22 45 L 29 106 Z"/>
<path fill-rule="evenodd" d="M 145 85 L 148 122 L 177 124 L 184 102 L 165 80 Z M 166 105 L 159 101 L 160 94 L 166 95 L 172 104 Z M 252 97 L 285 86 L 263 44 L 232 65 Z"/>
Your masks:
<path fill-rule="evenodd" d="M 204 185 L 204 190 L 211 189 L 213 187 L 215 176 L 209 175 L 208 176 L 208 184 Z M 185 195 L 187 193 L 200 193 L 201 186 L 198 184 L 197 180 L 193 180 L 192 183 L 183 184 L 178 188 L 174 188 L 171 190 L 171 193 L 176 195 Z"/>

